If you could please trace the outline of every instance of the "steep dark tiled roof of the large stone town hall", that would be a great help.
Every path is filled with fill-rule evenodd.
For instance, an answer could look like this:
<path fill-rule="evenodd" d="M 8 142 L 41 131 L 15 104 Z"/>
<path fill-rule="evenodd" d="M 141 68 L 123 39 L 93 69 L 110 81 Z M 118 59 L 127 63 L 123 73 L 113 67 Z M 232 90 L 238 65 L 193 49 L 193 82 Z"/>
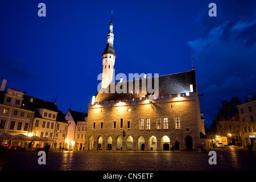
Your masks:
<path fill-rule="evenodd" d="M 156 77 L 141 78 L 139 80 L 115 82 L 110 84 L 108 88 L 104 89 L 103 92 L 98 92 L 96 95 L 96 102 L 111 101 L 111 100 L 127 100 L 130 98 L 139 98 L 148 96 L 151 93 L 148 90 L 148 81 L 152 82 L 152 90 L 154 90 L 154 82 Z M 146 80 L 145 80 L 146 79 Z M 187 71 L 181 73 L 174 73 L 170 75 L 159 76 L 159 96 L 165 96 L 170 94 L 186 93 L 190 90 L 190 85 L 193 85 L 193 92 L 196 92 L 196 76 L 195 71 Z M 139 89 L 135 88 L 135 81 L 139 81 Z M 146 85 L 143 85 L 143 82 Z M 126 84 L 126 93 L 111 93 L 111 88 L 116 88 L 117 84 Z M 129 90 L 129 84 L 133 83 L 133 89 Z M 144 86 L 144 87 L 143 87 Z M 143 90 L 143 88 L 146 88 Z M 122 89 L 122 88 L 121 88 Z M 107 92 L 108 91 L 108 92 Z"/>

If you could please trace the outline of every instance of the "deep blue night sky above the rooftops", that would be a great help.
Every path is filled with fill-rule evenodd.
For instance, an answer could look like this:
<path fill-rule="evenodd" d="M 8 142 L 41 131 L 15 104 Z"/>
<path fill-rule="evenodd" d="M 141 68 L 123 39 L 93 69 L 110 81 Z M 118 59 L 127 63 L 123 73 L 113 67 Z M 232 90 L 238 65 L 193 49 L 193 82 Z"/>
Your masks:
<path fill-rule="evenodd" d="M 46 4 L 46 17 L 38 4 Z M 210 17 L 209 3 L 217 16 Z M 256 1 L 0 0 L 0 78 L 63 113 L 88 111 L 113 10 L 115 73 L 191 70 L 209 127 L 221 101 L 256 92 Z"/>

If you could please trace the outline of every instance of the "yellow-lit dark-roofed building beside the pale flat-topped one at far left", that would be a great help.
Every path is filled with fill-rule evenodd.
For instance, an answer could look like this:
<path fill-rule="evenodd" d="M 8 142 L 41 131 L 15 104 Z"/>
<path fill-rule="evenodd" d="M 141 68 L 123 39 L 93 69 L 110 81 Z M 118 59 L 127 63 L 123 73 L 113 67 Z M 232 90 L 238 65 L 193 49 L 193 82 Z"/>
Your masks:
<path fill-rule="evenodd" d="M 67 137 L 68 123 L 62 111 L 57 109 L 56 102 L 44 101 L 32 96 L 23 96 L 24 107 L 34 111 L 31 132 L 29 136 L 48 137 L 47 142 L 52 150 L 63 147 Z M 35 142 L 34 147 L 44 147 L 43 142 Z"/>

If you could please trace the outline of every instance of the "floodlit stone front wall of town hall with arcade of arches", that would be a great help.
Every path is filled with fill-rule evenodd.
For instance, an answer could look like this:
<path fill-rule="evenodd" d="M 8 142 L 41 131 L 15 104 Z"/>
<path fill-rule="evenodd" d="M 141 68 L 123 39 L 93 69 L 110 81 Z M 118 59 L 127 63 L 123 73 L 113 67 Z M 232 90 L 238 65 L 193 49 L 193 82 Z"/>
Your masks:
<path fill-rule="evenodd" d="M 197 100 L 191 92 L 156 100 L 143 97 L 89 104 L 86 149 L 170 150 L 171 145 L 175 150 L 196 149 L 202 124 Z"/>

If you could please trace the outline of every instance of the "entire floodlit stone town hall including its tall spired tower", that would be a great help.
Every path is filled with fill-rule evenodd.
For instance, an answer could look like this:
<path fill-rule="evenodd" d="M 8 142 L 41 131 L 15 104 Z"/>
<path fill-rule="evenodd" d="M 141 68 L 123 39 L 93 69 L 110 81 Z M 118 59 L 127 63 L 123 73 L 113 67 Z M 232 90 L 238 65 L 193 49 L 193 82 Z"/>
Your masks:
<path fill-rule="evenodd" d="M 112 22 L 110 26 L 113 30 Z M 110 45 L 108 42 L 102 56 L 108 52 L 115 59 Z M 110 77 L 111 65 L 104 66 L 112 72 Z M 197 150 L 200 142 L 205 144 L 205 139 L 200 139 L 205 131 L 195 68 L 116 83 L 105 82 L 102 76 L 103 83 L 88 106 L 85 150 L 171 150 L 171 146 L 174 150 Z M 148 89 L 156 84 L 158 94 Z M 121 88 L 122 93 L 111 88 Z"/>

